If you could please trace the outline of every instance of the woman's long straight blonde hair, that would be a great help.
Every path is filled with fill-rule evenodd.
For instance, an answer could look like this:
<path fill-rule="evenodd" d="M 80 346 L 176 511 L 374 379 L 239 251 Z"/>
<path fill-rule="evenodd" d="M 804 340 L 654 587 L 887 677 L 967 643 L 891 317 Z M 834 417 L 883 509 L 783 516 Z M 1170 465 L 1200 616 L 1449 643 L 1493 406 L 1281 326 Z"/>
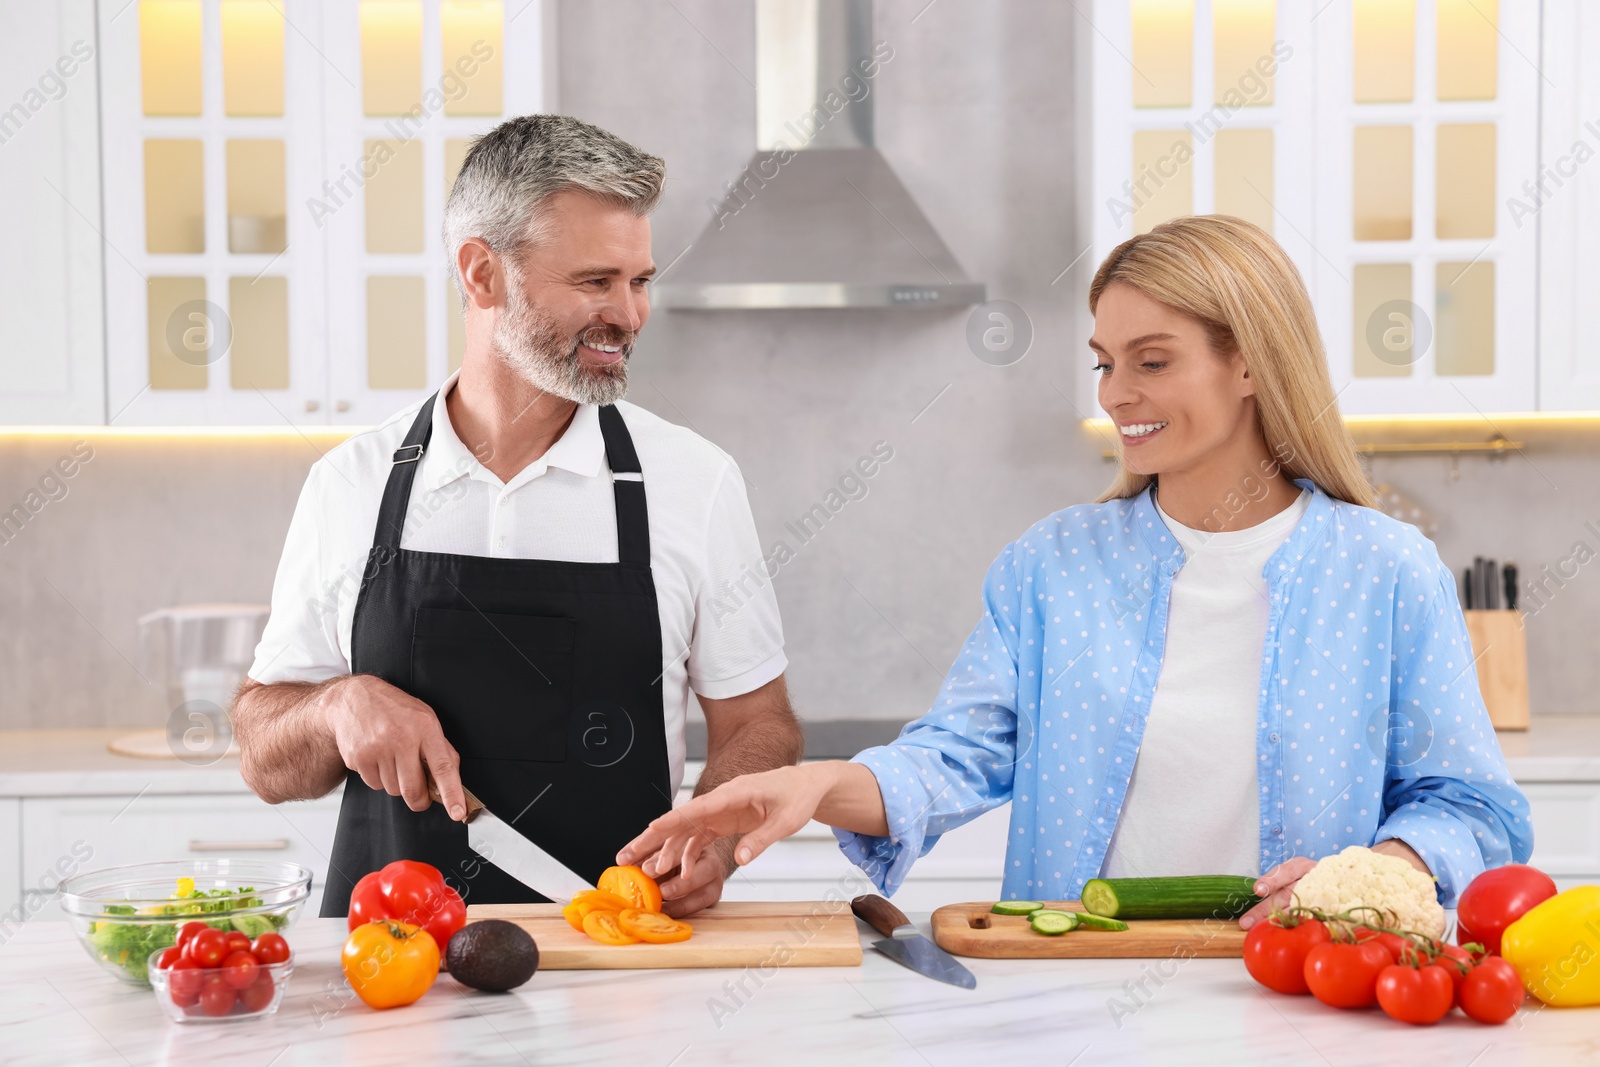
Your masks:
<path fill-rule="evenodd" d="M 1285 475 L 1376 504 L 1339 418 L 1306 283 L 1266 230 L 1227 214 L 1162 222 L 1106 256 L 1090 283 L 1090 312 L 1114 282 L 1198 320 L 1219 355 L 1238 349 L 1256 382 L 1256 421 Z M 1138 496 L 1150 480 L 1120 466 L 1098 502 Z"/>

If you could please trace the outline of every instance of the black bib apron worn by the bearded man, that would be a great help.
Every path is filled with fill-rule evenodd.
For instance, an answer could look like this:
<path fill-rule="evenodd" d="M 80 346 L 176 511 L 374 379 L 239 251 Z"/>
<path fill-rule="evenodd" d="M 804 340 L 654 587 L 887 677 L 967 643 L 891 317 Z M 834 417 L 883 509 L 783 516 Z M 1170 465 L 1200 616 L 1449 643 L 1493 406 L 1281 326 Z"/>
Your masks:
<path fill-rule="evenodd" d="M 634 438 L 614 406 L 600 430 L 616 490 L 616 563 L 510 560 L 400 547 L 430 397 L 394 454 L 355 601 L 352 673 L 434 709 L 483 805 L 594 881 L 672 806 L 661 704 L 661 614 Z M 443 872 L 469 904 L 542 902 L 467 848 L 443 805 L 411 811 L 350 771 L 322 915 L 395 859 Z"/>

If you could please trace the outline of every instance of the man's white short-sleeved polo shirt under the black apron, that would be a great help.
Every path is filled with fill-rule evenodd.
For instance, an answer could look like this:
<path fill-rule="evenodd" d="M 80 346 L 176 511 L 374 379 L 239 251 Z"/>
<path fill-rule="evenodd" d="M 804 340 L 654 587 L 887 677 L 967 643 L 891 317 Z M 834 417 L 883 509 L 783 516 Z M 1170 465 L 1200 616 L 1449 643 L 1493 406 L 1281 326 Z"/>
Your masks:
<path fill-rule="evenodd" d="M 544 456 L 502 483 L 456 435 L 445 395 L 419 461 L 402 549 L 614 563 L 616 498 L 600 414 L 579 405 Z M 414 403 L 312 464 L 272 587 L 250 677 L 325 681 L 350 670 L 350 624 L 390 459 Z M 710 699 L 757 689 L 787 667 L 778 600 L 762 563 L 739 467 L 693 430 L 618 403 L 645 472 L 650 565 L 661 608 L 661 699 L 672 790 L 683 781 L 690 688 Z"/>

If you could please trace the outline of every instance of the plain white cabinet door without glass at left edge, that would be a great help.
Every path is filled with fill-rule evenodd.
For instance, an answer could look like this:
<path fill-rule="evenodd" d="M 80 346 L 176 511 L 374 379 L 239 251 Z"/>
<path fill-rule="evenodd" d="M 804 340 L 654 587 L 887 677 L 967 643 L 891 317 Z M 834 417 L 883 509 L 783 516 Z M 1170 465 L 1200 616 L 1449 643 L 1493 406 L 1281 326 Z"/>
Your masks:
<path fill-rule="evenodd" d="M 106 421 L 94 5 L 0 5 L 0 422 Z"/>

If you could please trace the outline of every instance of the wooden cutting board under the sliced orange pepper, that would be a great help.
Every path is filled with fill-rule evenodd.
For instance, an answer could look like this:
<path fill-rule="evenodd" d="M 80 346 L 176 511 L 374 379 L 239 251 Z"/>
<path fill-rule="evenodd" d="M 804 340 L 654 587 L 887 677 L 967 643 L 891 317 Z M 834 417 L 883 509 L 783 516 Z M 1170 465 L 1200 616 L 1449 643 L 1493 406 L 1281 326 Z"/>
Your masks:
<path fill-rule="evenodd" d="M 675 945 L 603 945 L 573 929 L 557 904 L 467 905 L 467 921 L 480 918 L 504 918 L 533 934 L 541 971 L 861 966 L 850 901 L 723 901 L 690 918 L 694 934 Z"/>

